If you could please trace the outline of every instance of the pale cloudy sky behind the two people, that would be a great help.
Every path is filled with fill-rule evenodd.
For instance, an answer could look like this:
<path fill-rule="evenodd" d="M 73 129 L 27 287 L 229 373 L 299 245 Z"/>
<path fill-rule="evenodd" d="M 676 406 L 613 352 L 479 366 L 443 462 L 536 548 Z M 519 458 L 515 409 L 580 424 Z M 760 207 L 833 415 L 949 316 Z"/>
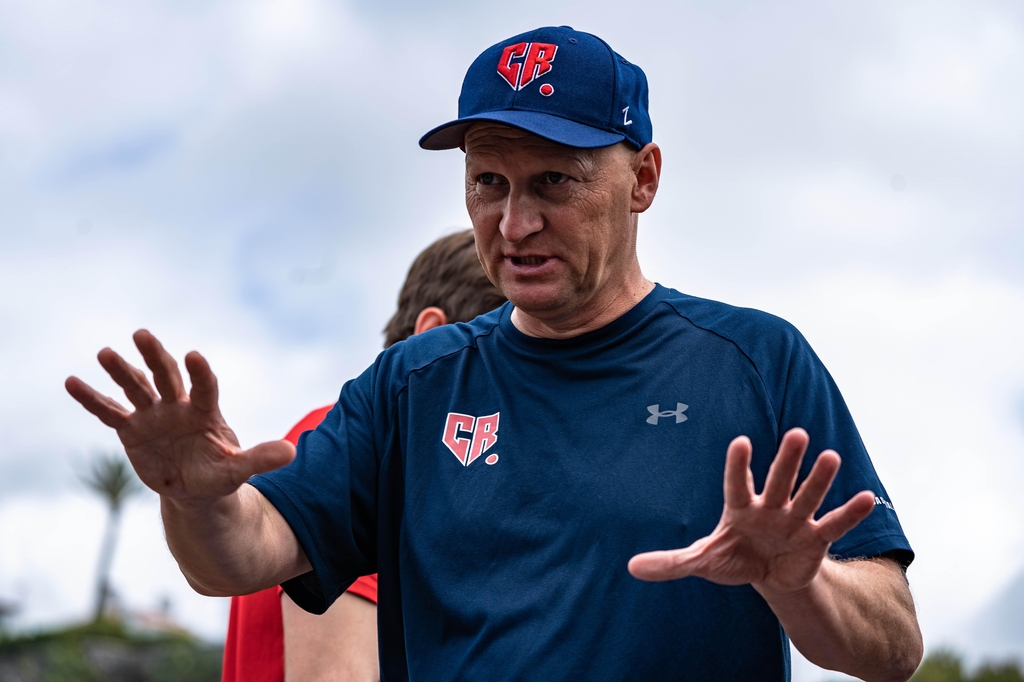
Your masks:
<path fill-rule="evenodd" d="M 88 613 L 113 432 L 63 391 L 200 349 L 243 443 L 378 352 L 412 258 L 469 226 L 462 155 L 417 140 L 465 69 L 545 25 L 650 82 L 645 273 L 794 323 L 918 553 L 926 645 L 1024 656 L 1024 5 L 0 0 L 0 599 Z M 114 585 L 203 636 L 155 495 Z M 1016 600 L 1016 601 L 1015 601 Z M 1018 606 L 1014 606 L 1014 605 Z M 992 624 L 996 624 L 993 626 Z M 798 662 L 795 680 L 841 679 Z"/>

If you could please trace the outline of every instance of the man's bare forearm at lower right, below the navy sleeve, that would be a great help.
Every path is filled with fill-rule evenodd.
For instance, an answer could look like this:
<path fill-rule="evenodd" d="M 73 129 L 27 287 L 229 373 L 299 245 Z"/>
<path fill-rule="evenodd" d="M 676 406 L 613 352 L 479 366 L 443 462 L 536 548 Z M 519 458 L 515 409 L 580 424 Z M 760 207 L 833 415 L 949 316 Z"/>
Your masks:
<path fill-rule="evenodd" d="M 907 680 L 923 643 L 913 600 L 895 562 L 825 559 L 799 593 L 759 590 L 808 660 L 868 682 Z"/>

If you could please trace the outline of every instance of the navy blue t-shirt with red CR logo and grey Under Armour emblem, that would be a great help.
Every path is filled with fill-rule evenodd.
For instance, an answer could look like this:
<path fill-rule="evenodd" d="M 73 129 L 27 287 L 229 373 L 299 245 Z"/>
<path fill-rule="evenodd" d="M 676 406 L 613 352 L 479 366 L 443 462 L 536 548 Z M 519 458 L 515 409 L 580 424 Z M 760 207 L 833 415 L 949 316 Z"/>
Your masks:
<path fill-rule="evenodd" d="M 685 547 L 722 513 L 725 451 L 764 485 L 802 426 L 801 470 L 864 489 L 843 557 L 910 546 L 839 389 L 791 325 L 656 287 L 595 332 L 525 336 L 511 304 L 415 336 L 345 384 L 290 466 L 256 476 L 312 564 L 285 584 L 323 612 L 379 573 L 381 677 L 785 680 L 788 641 L 750 586 L 644 583 L 630 557 Z"/>

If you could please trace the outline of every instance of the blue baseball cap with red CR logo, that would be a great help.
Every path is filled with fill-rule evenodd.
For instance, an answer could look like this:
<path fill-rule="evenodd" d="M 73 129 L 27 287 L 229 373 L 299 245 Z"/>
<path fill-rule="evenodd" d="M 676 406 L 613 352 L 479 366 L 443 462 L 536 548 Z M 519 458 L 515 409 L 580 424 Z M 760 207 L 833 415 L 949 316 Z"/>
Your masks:
<path fill-rule="evenodd" d="M 459 118 L 420 139 L 424 150 L 462 146 L 478 121 L 504 123 L 568 146 L 651 141 L 647 77 L 607 43 L 567 26 L 519 34 L 469 67 Z"/>

